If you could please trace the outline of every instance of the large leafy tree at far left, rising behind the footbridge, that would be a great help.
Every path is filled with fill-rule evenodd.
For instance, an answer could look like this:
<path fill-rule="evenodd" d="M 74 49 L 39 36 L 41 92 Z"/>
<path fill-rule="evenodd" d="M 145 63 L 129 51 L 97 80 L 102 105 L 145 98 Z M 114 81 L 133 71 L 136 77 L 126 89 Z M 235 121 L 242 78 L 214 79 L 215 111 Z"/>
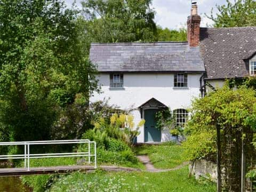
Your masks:
<path fill-rule="evenodd" d="M 49 139 L 57 109 L 97 86 L 75 19 L 59 0 L 0 2 L 0 122 L 15 141 Z"/>

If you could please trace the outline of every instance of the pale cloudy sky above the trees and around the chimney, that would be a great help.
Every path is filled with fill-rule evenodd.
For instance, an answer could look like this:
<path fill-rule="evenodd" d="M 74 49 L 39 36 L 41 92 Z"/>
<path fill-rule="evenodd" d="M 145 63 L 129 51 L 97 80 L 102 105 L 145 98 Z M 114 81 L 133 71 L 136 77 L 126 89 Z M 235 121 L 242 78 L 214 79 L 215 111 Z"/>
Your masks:
<path fill-rule="evenodd" d="M 74 0 L 65 0 L 68 7 Z M 76 0 L 78 7 L 81 7 L 81 0 Z M 226 0 L 197 0 L 198 13 L 202 17 L 201 27 L 206 25 L 212 25 L 212 21 L 205 17 L 205 14 L 210 15 L 212 7 L 214 8 L 214 13 L 217 12 L 215 5 L 226 4 Z M 151 5 L 156 11 L 155 22 L 157 25 L 163 28 L 169 29 L 179 29 L 185 26 L 187 17 L 190 14 L 191 0 L 153 0 Z"/>

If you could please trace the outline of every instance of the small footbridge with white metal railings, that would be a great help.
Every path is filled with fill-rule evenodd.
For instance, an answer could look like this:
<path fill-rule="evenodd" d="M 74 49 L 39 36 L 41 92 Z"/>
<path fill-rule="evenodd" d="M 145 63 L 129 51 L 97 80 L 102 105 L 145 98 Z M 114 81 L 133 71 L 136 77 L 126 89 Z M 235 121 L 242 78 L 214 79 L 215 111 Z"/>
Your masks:
<path fill-rule="evenodd" d="M 45 154 L 31 154 L 31 147 L 42 145 L 70 145 L 80 144 L 84 145 L 85 151 L 76 151 L 70 153 L 45 153 Z M 67 173 L 72 171 L 90 171 L 97 169 L 97 146 L 95 141 L 87 139 L 83 140 L 52 140 L 52 141 L 22 141 L 22 142 L 0 142 L 1 146 L 23 146 L 23 154 L 0 155 L 1 160 L 22 159 L 24 161 L 23 167 L 3 168 L 0 169 L 0 176 L 13 175 L 29 175 L 29 174 L 52 174 L 52 173 Z M 22 147 L 21 147 L 22 148 Z M 60 157 L 83 157 L 86 165 L 59 165 L 49 167 L 31 167 L 31 159 L 39 158 L 60 158 Z M 93 160 L 93 161 L 91 161 Z"/>

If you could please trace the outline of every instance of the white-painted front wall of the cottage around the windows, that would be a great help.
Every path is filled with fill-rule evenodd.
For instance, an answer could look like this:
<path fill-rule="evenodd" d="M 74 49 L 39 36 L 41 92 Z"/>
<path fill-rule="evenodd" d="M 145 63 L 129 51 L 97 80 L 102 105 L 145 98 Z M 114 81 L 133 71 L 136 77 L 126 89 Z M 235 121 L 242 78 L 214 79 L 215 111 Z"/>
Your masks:
<path fill-rule="evenodd" d="M 188 89 L 175 89 L 174 74 L 143 74 L 143 73 L 125 73 L 124 89 L 109 89 L 109 74 L 101 74 L 99 85 L 101 85 L 101 94 L 95 93 L 91 98 L 91 102 L 108 99 L 109 105 L 119 106 L 121 109 L 133 110 L 134 123 L 137 125 L 141 120 L 140 111 L 137 109 L 143 103 L 151 98 L 164 103 L 171 110 L 178 108 L 188 108 L 191 100 L 199 97 L 200 82 L 202 74 L 188 74 Z M 141 134 L 138 142 L 144 142 L 144 128 L 140 127 Z M 170 140 L 168 132 L 162 132 L 162 141 Z"/>

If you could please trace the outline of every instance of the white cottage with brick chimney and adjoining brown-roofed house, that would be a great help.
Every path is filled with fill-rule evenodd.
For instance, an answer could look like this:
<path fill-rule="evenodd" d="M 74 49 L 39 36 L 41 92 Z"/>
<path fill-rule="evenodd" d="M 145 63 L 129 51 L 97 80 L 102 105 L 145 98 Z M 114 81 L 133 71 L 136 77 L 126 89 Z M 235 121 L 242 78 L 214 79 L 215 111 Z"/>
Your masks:
<path fill-rule="evenodd" d="M 193 98 L 226 78 L 256 73 L 256 27 L 200 28 L 200 22 L 193 4 L 188 42 L 92 43 L 102 93 L 90 101 L 109 99 L 110 105 L 133 109 L 135 124 L 145 119 L 138 142 L 172 139 L 169 131 L 156 129 L 157 110 L 169 107 L 182 127 Z"/>

